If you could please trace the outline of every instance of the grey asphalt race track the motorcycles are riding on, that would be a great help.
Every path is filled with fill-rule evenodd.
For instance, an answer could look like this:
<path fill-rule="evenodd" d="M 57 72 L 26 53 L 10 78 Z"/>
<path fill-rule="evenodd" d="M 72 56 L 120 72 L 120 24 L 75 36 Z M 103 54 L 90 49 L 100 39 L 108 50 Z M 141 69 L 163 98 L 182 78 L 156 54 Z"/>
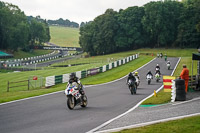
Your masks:
<path fill-rule="evenodd" d="M 140 86 L 136 95 L 131 95 L 126 79 L 121 78 L 108 84 L 86 87 L 88 107 L 66 107 L 63 92 L 0 105 L 1 133 L 85 133 L 102 123 L 126 112 L 142 99 L 162 86 L 162 80 L 146 81 L 146 73 L 154 73 L 156 64 L 162 75 L 171 75 L 178 58 L 168 58 L 171 70 L 167 70 L 162 58 L 151 61 L 138 70 Z M 64 90 L 65 88 L 63 88 Z"/>

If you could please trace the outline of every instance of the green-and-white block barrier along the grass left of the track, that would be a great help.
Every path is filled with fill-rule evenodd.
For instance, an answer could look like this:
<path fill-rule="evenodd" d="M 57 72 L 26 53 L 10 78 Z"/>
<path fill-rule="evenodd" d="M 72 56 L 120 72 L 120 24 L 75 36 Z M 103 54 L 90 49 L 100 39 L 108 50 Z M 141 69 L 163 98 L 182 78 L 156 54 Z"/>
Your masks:
<path fill-rule="evenodd" d="M 112 68 L 115 68 L 115 67 L 118 67 L 122 64 L 125 64 L 131 60 L 134 60 L 138 58 L 138 55 L 133 55 L 133 56 L 129 56 L 129 57 L 126 57 L 122 60 L 118 60 L 118 61 L 115 61 L 113 63 L 109 63 L 108 65 L 104 65 L 102 67 L 99 67 L 99 68 L 92 68 L 92 69 L 89 69 L 89 70 L 84 70 L 84 71 L 78 71 L 78 72 L 75 72 L 75 75 L 81 79 L 81 78 L 85 78 L 89 75 L 95 75 L 97 73 L 101 73 L 101 72 L 105 72 L 105 71 L 108 71 Z M 50 87 L 50 86 L 53 86 L 55 84 L 59 84 L 59 83 L 66 83 L 69 81 L 69 76 L 70 76 L 70 73 L 69 74 L 63 74 L 63 75 L 58 75 L 58 76 L 49 76 L 49 77 L 46 77 L 46 83 L 45 83 L 45 86 L 46 87 Z"/>

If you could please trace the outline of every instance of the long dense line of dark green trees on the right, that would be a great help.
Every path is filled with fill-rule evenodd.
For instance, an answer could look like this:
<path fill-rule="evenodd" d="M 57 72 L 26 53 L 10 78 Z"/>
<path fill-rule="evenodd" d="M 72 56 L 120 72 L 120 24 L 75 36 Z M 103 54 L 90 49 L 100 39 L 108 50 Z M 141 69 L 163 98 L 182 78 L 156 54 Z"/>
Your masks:
<path fill-rule="evenodd" d="M 200 0 L 164 0 L 104 14 L 80 28 L 80 46 L 90 55 L 136 48 L 197 48 Z"/>

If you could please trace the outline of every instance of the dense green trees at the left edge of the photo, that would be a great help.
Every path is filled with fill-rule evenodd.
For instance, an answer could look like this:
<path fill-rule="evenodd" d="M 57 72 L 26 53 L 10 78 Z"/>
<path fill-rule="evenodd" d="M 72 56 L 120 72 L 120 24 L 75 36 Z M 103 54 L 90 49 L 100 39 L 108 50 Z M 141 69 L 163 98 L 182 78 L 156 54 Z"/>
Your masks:
<path fill-rule="evenodd" d="M 0 1 L 0 49 L 29 50 L 49 40 L 45 20 L 27 17 L 17 6 Z"/>

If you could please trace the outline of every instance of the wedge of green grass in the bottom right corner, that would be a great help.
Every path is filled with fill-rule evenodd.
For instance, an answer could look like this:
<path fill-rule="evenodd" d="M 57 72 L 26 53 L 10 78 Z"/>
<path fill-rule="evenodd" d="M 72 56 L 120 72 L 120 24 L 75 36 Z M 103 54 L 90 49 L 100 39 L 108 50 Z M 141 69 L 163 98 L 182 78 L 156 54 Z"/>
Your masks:
<path fill-rule="evenodd" d="M 199 133 L 200 116 L 122 130 L 116 133 Z"/>

